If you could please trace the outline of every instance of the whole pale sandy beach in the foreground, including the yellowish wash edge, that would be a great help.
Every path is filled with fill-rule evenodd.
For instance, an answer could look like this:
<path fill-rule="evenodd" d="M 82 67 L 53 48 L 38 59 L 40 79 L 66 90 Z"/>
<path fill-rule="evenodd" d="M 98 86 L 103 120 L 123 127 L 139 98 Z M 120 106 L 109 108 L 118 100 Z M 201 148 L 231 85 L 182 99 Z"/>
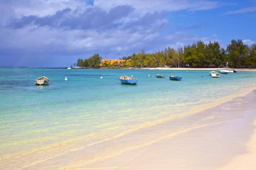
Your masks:
<path fill-rule="evenodd" d="M 88 146 L 38 151 L 4 169 L 255 169 L 253 88 Z M 253 135 L 253 136 L 252 136 Z M 83 140 L 81 140 L 83 143 Z M 85 142 L 85 141 L 84 141 Z M 71 147 L 72 146 L 72 147 Z M 82 147 L 83 146 L 83 147 Z M 30 159 L 28 159 L 30 158 Z M 10 157 L 11 159 L 11 157 Z M 240 168 L 239 168 L 240 167 Z M 245 168 L 242 168 L 245 169 Z"/>

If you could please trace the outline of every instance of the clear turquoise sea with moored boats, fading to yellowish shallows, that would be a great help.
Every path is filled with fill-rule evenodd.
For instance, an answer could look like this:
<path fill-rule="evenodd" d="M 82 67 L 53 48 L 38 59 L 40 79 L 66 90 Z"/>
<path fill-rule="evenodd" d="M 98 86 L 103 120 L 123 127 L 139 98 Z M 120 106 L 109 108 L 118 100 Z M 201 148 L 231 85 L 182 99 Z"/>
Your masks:
<path fill-rule="evenodd" d="M 171 74 L 182 81 L 169 80 Z M 137 85 L 122 85 L 121 75 L 138 78 Z M 41 76 L 49 86 L 35 86 Z M 254 86 L 255 72 L 211 78 L 201 70 L 0 67 L 0 155 L 70 141 L 88 145 Z"/>

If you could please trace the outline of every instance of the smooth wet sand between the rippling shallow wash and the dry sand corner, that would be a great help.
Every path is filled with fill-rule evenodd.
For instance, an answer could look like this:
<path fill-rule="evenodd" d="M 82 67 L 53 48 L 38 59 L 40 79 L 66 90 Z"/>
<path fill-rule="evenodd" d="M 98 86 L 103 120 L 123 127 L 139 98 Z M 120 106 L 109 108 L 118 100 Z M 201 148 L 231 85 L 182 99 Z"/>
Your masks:
<path fill-rule="evenodd" d="M 251 163 L 235 160 L 239 155 L 247 160 L 248 152 L 255 149 L 250 141 L 255 129 L 255 99 L 256 91 L 252 91 L 197 114 L 102 142 L 94 148 L 97 152 L 92 153 L 93 148 L 77 152 L 76 158 L 60 169 L 232 169 L 233 159 L 242 167 L 252 164 L 248 169 L 255 169 L 253 158 L 248 159 Z"/>

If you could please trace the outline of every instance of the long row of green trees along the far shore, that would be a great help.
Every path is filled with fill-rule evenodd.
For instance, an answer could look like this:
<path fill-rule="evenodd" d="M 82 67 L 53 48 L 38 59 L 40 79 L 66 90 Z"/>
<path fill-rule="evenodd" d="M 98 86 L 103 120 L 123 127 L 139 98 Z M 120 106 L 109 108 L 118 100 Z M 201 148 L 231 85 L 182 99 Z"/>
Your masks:
<path fill-rule="evenodd" d="M 192 45 L 179 47 L 177 50 L 167 47 L 155 53 L 145 53 L 144 50 L 130 56 L 120 58 L 110 64 L 101 62 L 98 54 L 88 59 L 77 60 L 78 67 L 208 67 L 227 65 L 230 67 L 256 66 L 256 44 L 248 46 L 242 40 L 232 40 L 226 50 L 218 42 L 203 43 L 198 41 Z"/>

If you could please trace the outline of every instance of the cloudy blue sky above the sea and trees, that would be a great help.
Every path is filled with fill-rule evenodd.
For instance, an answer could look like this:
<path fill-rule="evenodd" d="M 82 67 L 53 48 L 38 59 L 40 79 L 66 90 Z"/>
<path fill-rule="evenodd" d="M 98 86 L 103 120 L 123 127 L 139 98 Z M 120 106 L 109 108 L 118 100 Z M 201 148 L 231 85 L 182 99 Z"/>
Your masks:
<path fill-rule="evenodd" d="M 0 66 L 70 67 L 232 39 L 256 42 L 256 0 L 0 0 Z"/>

